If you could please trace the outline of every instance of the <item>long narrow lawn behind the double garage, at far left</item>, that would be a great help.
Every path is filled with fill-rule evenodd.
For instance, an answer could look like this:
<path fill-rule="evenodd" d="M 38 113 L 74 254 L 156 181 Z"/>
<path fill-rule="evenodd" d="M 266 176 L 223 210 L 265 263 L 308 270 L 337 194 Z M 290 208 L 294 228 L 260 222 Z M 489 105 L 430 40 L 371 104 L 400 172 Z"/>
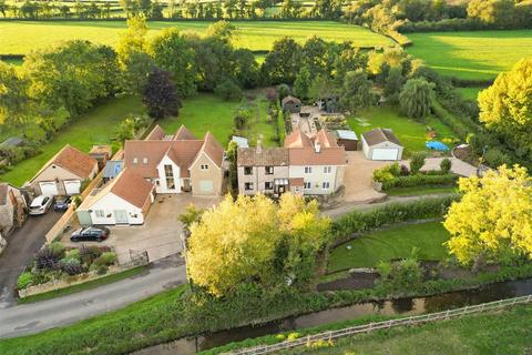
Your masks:
<path fill-rule="evenodd" d="M 33 178 L 41 166 L 65 144 L 89 151 L 93 144 L 109 143 L 117 124 L 127 114 L 143 111 L 139 98 L 113 99 L 63 128 L 51 142 L 42 145 L 42 153 L 20 162 L 10 172 L 0 175 L 0 180 L 20 186 Z"/>

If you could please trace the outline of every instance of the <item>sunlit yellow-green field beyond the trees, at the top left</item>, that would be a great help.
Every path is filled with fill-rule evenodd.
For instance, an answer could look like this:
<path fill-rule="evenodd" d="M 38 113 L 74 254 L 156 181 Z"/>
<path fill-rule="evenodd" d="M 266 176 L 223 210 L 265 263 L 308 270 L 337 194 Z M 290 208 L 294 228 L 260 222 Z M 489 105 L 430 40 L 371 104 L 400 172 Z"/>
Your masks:
<path fill-rule="evenodd" d="M 204 32 L 212 22 L 183 21 L 150 22 L 150 34 L 167 28 Z M 289 36 L 303 42 L 311 36 L 329 41 L 351 40 L 356 45 L 390 45 L 391 40 L 361 27 L 334 21 L 239 21 L 235 44 L 250 50 L 269 50 L 272 43 Z M 125 29 L 125 21 L 4 21 L 0 22 L 0 54 L 25 54 L 37 48 L 45 48 L 62 40 L 85 39 L 96 43 L 114 44 Z M 39 33 L 39 36 L 35 36 Z"/>

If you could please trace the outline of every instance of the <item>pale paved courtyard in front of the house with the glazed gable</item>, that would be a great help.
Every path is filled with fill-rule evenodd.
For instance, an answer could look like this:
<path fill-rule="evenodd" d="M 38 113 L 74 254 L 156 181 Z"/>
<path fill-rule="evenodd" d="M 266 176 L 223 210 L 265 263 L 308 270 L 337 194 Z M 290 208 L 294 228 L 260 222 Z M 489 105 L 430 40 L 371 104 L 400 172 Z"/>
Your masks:
<path fill-rule="evenodd" d="M 191 194 L 158 194 L 152 204 L 143 225 L 108 226 L 111 236 L 102 243 L 88 243 L 94 245 L 109 245 L 114 247 L 121 263 L 127 262 L 131 255 L 147 252 L 150 261 L 160 260 L 180 253 L 183 250 L 181 232 L 183 224 L 177 221 L 185 207 L 193 203 L 198 209 L 207 209 L 219 201 L 219 197 L 194 197 Z M 70 245 L 69 233 L 62 242 Z"/>

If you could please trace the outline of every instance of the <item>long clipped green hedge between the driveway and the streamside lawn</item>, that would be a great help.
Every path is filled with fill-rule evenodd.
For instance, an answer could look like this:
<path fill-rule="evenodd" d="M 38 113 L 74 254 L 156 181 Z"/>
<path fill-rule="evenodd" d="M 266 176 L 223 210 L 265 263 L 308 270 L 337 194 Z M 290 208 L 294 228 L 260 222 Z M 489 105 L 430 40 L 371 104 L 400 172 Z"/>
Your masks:
<path fill-rule="evenodd" d="M 334 243 L 341 243 L 355 233 L 368 232 L 380 226 L 407 221 L 442 217 L 458 195 L 423 199 L 409 203 L 390 203 L 369 212 L 355 211 L 332 222 Z"/>

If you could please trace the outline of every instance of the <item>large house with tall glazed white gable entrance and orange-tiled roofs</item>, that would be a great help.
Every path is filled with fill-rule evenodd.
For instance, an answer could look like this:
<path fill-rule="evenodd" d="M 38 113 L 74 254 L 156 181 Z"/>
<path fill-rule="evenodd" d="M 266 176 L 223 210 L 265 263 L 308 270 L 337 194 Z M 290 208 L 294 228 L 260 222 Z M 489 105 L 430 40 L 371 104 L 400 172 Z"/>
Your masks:
<path fill-rule="evenodd" d="M 224 149 L 213 134 L 195 138 L 184 125 L 166 134 L 156 125 L 145 140 L 126 141 L 124 168 L 155 185 L 157 193 L 219 195 Z"/>

